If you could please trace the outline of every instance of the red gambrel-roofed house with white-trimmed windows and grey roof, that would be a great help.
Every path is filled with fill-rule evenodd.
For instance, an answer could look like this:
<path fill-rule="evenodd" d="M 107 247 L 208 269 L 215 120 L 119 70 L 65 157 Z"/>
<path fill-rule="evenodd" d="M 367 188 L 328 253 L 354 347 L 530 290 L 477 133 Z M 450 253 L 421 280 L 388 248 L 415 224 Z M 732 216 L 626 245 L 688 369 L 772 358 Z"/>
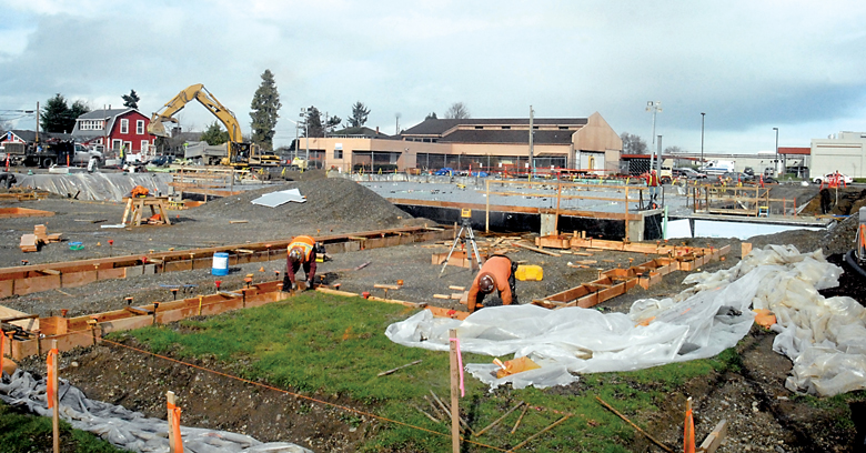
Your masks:
<path fill-rule="evenodd" d="M 75 120 L 72 139 L 82 144 L 101 144 L 109 154 L 123 148 L 128 154 L 151 151 L 154 135 L 148 133 L 150 119 L 135 109 L 101 109 Z"/>

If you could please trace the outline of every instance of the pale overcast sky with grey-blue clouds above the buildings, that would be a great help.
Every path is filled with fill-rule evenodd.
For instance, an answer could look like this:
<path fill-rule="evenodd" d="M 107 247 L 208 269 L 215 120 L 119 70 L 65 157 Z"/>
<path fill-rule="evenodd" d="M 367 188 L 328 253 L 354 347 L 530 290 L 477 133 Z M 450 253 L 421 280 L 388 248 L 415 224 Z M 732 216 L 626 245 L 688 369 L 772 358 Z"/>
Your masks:
<path fill-rule="evenodd" d="M 665 148 L 808 147 L 866 131 L 866 2 L 0 0 L 0 118 L 54 93 L 91 109 L 134 89 L 150 115 L 203 83 L 244 133 L 270 69 L 289 144 L 302 107 L 394 133 L 463 102 L 473 118 L 585 118 Z M 198 103 L 179 118 L 201 130 Z M 16 124 L 32 129 L 33 120 Z"/>

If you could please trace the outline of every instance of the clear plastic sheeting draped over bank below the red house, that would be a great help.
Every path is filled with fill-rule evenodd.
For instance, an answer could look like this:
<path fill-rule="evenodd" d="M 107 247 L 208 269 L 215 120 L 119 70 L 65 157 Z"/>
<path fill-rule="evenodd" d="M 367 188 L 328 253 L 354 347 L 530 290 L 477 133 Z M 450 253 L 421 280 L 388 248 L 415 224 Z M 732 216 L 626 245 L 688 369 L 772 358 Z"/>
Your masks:
<path fill-rule="evenodd" d="M 78 200 L 121 201 L 132 188 L 142 185 L 152 195 L 168 194 L 169 173 L 73 173 L 73 174 L 16 174 L 18 187 L 44 190 Z"/>

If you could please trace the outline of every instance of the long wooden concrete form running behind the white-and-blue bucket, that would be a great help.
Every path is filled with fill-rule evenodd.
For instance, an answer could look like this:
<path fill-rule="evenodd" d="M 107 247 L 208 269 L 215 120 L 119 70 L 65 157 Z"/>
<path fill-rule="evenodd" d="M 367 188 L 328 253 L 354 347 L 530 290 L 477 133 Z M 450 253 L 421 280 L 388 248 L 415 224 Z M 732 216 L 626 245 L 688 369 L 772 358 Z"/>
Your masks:
<path fill-rule="evenodd" d="M 350 236 L 361 238 L 363 241 L 349 239 Z M 361 249 L 380 249 L 413 242 L 443 240 L 451 236 L 452 232 L 449 229 L 410 226 L 346 235 L 316 236 L 316 241 L 324 243 L 328 253 L 340 253 Z M 285 259 L 285 248 L 290 242 L 291 238 L 207 249 L 2 268 L 0 269 L 0 298 L 24 295 L 60 288 L 82 286 L 98 280 L 210 269 L 213 265 L 213 253 L 216 252 L 230 253 L 229 265 Z M 239 250 L 250 253 L 240 253 Z"/>

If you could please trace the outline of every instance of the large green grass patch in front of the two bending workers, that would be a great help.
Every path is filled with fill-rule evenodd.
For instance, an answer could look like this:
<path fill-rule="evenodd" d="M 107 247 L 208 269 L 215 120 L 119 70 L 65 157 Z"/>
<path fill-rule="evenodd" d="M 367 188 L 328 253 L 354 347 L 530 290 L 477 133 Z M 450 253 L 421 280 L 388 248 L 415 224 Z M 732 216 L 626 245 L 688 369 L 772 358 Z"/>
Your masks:
<path fill-rule="evenodd" d="M 303 393 L 344 395 L 373 405 L 377 415 L 400 421 L 382 423 L 361 451 L 446 451 L 450 449 L 450 421 L 435 423 L 417 406 L 435 415 L 424 396 L 434 391 L 449 402 L 449 354 L 392 343 L 384 335 L 391 323 L 413 311 L 394 304 L 361 298 L 304 293 L 289 301 L 225 313 L 204 321 L 185 321 L 181 329 L 151 326 L 130 334 L 148 343 L 154 352 L 172 351 L 180 358 L 216 358 L 231 368 L 233 361 L 249 363 L 238 373 Z M 185 332 L 185 333 L 182 333 Z M 422 363 L 387 376 L 376 374 L 416 360 Z M 490 362 L 485 355 L 464 354 L 464 363 Z M 499 419 L 517 401 L 527 410 L 514 434 L 520 416 L 512 413 L 485 432 L 482 444 L 501 449 L 514 446 L 557 421 L 573 414 L 552 433 L 540 436 L 526 449 L 538 451 L 626 452 L 634 430 L 604 409 L 598 395 L 638 425 L 658 410 L 661 402 L 688 380 L 713 371 L 736 370 L 738 355 L 732 349 L 718 358 L 675 363 L 628 373 L 587 374 L 580 384 L 563 390 L 500 389 L 465 378 L 466 397 L 461 412 L 475 431 Z M 343 419 L 360 423 L 355 414 Z M 466 444 L 470 451 L 483 450 Z"/>

